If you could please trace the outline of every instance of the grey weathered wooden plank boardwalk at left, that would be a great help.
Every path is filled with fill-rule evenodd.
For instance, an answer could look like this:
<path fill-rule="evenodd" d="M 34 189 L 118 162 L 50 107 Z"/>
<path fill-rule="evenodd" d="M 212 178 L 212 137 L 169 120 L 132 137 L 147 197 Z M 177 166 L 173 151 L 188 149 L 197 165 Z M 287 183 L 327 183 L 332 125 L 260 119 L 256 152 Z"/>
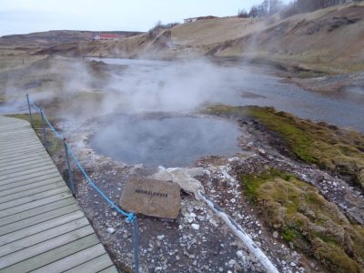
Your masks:
<path fill-rule="evenodd" d="M 0 116 L 0 272 L 117 272 L 35 131 Z"/>

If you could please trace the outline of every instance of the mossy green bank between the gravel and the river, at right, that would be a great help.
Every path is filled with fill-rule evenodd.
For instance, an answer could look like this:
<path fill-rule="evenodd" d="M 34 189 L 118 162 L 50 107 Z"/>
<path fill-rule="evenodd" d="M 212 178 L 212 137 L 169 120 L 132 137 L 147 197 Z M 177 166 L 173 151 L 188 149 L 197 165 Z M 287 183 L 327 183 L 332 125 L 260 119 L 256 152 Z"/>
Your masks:
<path fill-rule="evenodd" d="M 298 158 L 350 177 L 364 188 L 364 136 L 326 123 L 313 123 L 272 107 L 211 106 L 208 114 L 254 117 L 280 136 Z"/>

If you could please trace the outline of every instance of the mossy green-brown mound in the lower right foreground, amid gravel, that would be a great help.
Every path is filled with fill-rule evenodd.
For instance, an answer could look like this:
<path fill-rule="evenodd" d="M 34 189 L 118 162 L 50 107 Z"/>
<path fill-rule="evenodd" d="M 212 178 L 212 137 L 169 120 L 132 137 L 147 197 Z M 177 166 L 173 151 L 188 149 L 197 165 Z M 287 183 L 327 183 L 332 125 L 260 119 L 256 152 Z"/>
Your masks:
<path fill-rule="evenodd" d="M 258 205 L 268 227 L 295 248 L 330 272 L 361 272 L 364 227 L 351 224 L 316 187 L 275 169 L 242 176 L 241 181 L 244 194 Z"/>

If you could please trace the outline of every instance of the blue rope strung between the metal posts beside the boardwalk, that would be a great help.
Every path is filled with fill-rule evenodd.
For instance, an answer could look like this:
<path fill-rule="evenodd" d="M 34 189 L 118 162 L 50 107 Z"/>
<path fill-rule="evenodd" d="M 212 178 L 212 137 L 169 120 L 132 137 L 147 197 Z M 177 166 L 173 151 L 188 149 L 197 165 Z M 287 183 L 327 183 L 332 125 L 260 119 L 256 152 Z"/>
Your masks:
<path fill-rule="evenodd" d="M 32 106 L 35 108 L 35 110 L 41 112 L 43 111 L 41 108 L 35 106 L 35 104 L 33 103 L 33 101 L 30 100 L 30 103 L 32 104 Z M 57 131 L 56 128 L 54 126 L 52 126 L 52 124 L 49 122 L 48 118 L 46 118 L 45 116 L 45 112 L 43 111 L 43 116 L 45 117 L 45 122 L 47 123 L 47 125 L 51 128 L 51 130 L 55 133 L 56 137 L 58 137 L 59 139 L 64 139 L 63 136 L 61 136 Z M 134 215 L 134 213 L 130 212 L 127 213 L 124 210 L 122 210 L 120 207 L 117 207 L 116 204 L 110 200 L 110 198 L 106 197 L 105 193 L 95 185 L 95 183 L 91 180 L 90 177 L 87 176 L 85 169 L 81 166 L 81 164 L 79 163 L 77 157 L 75 156 L 73 150 L 68 147 L 68 151 L 69 154 L 71 155 L 71 157 L 74 159 L 76 166 L 78 167 L 78 169 L 81 171 L 81 173 L 84 175 L 84 177 L 86 178 L 87 182 L 95 188 L 96 192 L 103 197 L 106 202 L 111 206 L 114 207 L 116 209 L 117 212 L 119 212 L 120 214 L 124 215 L 126 217 L 126 222 L 127 223 L 131 223 L 136 219 L 136 216 Z"/>

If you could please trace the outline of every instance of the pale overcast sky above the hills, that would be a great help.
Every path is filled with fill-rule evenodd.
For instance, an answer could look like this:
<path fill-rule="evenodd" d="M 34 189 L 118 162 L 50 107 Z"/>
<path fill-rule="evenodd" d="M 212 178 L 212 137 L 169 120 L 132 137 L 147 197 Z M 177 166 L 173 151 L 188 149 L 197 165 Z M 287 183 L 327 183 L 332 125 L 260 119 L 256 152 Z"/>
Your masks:
<path fill-rule="evenodd" d="M 55 29 L 147 31 L 157 21 L 237 15 L 262 0 L 0 0 L 0 36 Z"/>

